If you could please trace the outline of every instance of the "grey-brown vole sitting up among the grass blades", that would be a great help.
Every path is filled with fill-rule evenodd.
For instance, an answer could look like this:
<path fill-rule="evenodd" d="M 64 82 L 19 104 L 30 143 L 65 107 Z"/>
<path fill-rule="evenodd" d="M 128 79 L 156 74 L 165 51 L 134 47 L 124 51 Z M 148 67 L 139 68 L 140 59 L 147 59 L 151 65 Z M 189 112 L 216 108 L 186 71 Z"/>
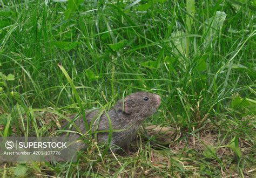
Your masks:
<path fill-rule="evenodd" d="M 111 145 L 117 145 L 130 153 L 129 145 L 136 134 L 136 131 L 142 122 L 157 112 L 160 106 L 161 98 L 158 94 L 149 92 L 137 92 L 127 95 L 124 99 L 117 101 L 110 111 L 108 111 L 113 130 Z M 101 115 L 100 115 L 101 114 Z M 92 123 L 93 131 L 109 131 L 109 120 L 104 111 L 100 109 L 86 114 L 86 120 L 89 126 Z M 86 133 L 86 127 L 82 118 L 77 118 L 75 125 L 79 127 L 82 133 Z M 72 128 L 75 130 L 74 128 Z M 97 133 L 97 141 L 106 143 L 109 138 L 109 132 Z M 117 149 L 114 149 L 116 151 Z"/>

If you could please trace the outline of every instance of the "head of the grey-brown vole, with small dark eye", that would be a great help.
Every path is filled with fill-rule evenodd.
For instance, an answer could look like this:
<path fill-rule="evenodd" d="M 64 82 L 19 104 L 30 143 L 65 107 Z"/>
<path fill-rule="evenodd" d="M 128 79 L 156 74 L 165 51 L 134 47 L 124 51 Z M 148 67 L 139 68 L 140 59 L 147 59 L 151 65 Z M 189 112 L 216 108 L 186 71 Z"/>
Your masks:
<path fill-rule="evenodd" d="M 145 119 L 157 111 L 160 103 L 161 98 L 158 94 L 137 92 L 119 100 L 114 108 L 134 118 Z"/>

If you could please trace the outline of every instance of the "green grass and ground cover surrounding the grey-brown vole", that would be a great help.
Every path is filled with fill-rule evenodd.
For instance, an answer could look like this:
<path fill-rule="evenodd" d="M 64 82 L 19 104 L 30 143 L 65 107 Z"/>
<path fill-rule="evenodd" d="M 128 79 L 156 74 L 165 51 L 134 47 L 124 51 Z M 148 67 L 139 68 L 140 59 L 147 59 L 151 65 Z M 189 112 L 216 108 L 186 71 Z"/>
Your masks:
<path fill-rule="evenodd" d="M 140 90 L 163 101 L 131 156 L 89 141 L 77 162 L 4 162 L 1 176 L 255 176 L 254 1 L 0 3 L 1 136 L 54 135 Z"/>

